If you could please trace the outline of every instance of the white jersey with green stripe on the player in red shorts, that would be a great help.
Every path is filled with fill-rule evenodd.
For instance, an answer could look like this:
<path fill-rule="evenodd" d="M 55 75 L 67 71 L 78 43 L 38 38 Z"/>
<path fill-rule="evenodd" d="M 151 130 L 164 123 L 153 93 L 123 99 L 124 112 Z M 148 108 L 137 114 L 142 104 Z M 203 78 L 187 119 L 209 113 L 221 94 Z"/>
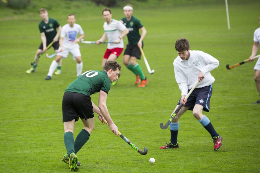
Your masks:
<path fill-rule="evenodd" d="M 118 20 L 112 19 L 112 21 L 107 24 L 107 22 L 104 23 L 103 28 L 105 30 L 105 33 L 107 34 L 108 42 L 115 42 L 116 39 L 118 39 L 121 35 L 121 32 L 126 29 L 126 26 L 119 22 Z M 120 43 L 108 43 L 107 49 L 114 49 L 116 47 L 124 48 L 124 42 L 123 39 L 120 40 Z"/>

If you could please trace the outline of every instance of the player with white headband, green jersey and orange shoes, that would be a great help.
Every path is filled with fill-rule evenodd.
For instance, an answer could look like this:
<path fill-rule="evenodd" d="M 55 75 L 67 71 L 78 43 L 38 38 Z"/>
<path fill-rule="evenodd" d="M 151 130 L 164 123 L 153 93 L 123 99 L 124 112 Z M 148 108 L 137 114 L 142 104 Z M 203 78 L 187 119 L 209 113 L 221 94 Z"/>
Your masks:
<path fill-rule="evenodd" d="M 146 29 L 138 18 L 132 16 L 132 5 L 126 5 L 123 8 L 123 11 L 126 17 L 122 18 L 120 22 L 122 22 L 129 30 L 129 33 L 127 34 L 128 45 L 124 52 L 123 64 L 125 64 L 125 66 L 136 75 L 135 84 L 141 82 L 138 87 L 145 87 L 146 84 L 148 84 L 148 80 L 146 79 L 141 66 L 136 63 L 136 59 L 141 59 L 141 51 L 139 46 L 143 47 L 144 45 L 143 39 L 146 35 Z M 142 31 L 141 35 L 139 34 L 139 29 Z"/>

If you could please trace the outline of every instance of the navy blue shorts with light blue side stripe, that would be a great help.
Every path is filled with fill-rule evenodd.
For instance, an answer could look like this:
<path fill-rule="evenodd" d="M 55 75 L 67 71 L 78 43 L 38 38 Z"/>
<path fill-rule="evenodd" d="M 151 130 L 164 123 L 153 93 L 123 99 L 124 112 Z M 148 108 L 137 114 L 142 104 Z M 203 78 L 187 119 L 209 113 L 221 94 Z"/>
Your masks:
<path fill-rule="evenodd" d="M 189 93 L 188 89 L 188 93 Z M 185 107 L 191 107 L 189 110 L 193 110 L 195 105 L 203 106 L 203 110 L 206 112 L 210 111 L 210 98 L 212 95 L 212 84 L 202 88 L 195 88 L 189 98 Z M 180 105 L 180 100 L 177 105 Z"/>

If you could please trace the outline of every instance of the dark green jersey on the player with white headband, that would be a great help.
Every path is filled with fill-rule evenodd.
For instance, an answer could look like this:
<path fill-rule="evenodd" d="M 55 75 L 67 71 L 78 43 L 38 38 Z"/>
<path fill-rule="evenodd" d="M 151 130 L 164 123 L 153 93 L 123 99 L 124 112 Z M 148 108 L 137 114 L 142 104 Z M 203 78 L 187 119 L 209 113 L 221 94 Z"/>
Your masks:
<path fill-rule="evenodd" d="M 128 44 L 137 44 L 141 37 L 139 34 L 139 29 L 144 25 L 142 25 L 140 20 L 134 16 L 132 16 L 129 21 L 126 19 L 126 17 L 122 18 L 121 20 L 124 22 L 124 25 L 129 30 L 129 33 L 127 34 Z"/>

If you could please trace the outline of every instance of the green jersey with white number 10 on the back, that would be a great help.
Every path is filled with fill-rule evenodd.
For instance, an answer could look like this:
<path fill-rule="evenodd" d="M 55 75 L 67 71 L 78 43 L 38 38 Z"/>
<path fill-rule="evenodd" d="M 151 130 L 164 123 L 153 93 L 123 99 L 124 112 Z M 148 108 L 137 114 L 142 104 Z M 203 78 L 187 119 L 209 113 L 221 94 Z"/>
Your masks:
<path fill-rule="evenodd" d="M 111 82 L 105 71 L 89 70 L 82 73 L 74 80 L 65 92 L 82 93 L 87 96 L 98 93 L 100 90 L 106 92 L 110 90 Z"/>

